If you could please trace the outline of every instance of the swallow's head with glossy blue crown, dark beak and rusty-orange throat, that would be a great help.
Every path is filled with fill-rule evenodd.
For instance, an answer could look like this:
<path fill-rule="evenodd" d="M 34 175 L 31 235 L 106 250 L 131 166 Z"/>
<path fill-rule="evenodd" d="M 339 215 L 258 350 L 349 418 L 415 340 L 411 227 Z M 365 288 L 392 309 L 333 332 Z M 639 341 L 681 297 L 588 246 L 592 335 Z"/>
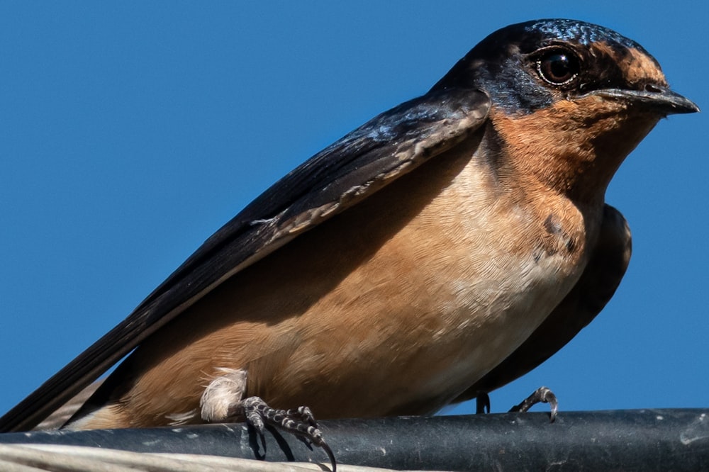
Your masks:
<path fill-rule="evenodd" d="M 660 118 L 699 111 L 669 89 L 642 46 L 573 20 L 530 21 L 492 33 L 432 91 L 453 88 L 490 96 L 491 123 L 515 165 L 559 191 L 590 188 L 594 196 L 603 196 L 625 156 Z"/>

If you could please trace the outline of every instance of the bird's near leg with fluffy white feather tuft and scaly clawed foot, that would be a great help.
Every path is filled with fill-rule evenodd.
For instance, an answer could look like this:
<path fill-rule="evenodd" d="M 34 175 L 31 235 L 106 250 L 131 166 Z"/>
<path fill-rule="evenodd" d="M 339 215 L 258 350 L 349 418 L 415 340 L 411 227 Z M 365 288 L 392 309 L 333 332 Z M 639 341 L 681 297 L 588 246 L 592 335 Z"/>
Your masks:
<path fill-rule="evenodd" d="M 261 444 L 266 449 L 264 429 L 271 425 L 296 437 L 306 439 L 320 447 L 328 454 L 333 464 L 333 472 L 337 470 L 335 454 L 325 439 L 323 432 L 310 408 L 301 406 L 291 410 L 277 410 L 267 405 L 259 397 L 247 397 L 245 370 L 220 369 L 223 376 L 215 378 L 202 393 L 199 405 L 202 419 L 208 422 L 224 422 L 225 420 L 245 417 L 247 425 L 251 425 L 261 438 Z"/>

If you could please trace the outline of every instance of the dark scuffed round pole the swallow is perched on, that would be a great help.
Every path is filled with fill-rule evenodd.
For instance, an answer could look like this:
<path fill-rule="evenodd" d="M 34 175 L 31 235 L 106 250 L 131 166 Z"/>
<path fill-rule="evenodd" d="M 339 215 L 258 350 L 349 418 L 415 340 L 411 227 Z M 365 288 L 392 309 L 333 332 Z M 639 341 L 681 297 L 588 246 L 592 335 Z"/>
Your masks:
<path fill-rule="evenodd" d="M 394 469 L 495 471 L 709 470 L 709 409 L 396 417 L 323 421 L 338 463 Z M 329 463 L 269 430 L 266 450 L 245 425 L 0 434 L 0 444 L 100 446 Z"/>

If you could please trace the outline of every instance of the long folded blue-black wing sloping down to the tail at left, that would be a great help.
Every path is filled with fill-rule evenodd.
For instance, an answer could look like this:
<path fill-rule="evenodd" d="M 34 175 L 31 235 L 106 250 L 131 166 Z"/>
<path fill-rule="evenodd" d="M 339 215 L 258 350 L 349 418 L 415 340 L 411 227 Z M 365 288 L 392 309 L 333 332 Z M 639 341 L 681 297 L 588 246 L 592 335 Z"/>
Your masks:
<path fill-rule="evenodd" d="M 31 429 L 225 279 L 462 142 L 489 108 L 481 91 L 430 91 L 311 157 L 206 240 L 128 318 L 1 417 L 0 432 Z"/>

